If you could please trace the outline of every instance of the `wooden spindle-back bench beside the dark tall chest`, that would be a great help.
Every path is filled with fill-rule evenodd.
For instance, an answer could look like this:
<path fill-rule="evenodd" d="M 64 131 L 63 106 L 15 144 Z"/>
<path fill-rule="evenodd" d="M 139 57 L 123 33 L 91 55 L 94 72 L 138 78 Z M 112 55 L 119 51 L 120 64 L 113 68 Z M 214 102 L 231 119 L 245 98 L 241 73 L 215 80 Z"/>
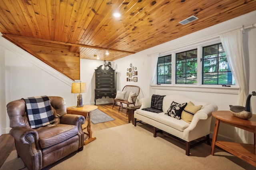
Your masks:
<path fill-rule="evenodd" d="M 127 106 L 129 106 L 129 105 L 135 106 L 137 97 L 140 94 L 140 87 L 139 86 L 126 85 L 126 86 L 124 86 L 122 92 L 125 92 L 125 91 L 126 91 L 126 94 L 125 94 L 124 100 L 114 99 L 112 109 L 114 108 L 114 105 L 116 105 L 116 102 L 120 103 L 118 112 L 120 111 L 121 106 L 122 106 L 122 108 L 125 108 L 125 107 L 123 107 L 123 104 L 126 104 Z M 128 102 L 128 97 L 129 97 L 130 92 L 136 93 L 136 96 L 132 97 L 132 102 Z M 126 111 L 126 116 L 127 116 L 127 114 L 128 114 L 128 110 Z"/>

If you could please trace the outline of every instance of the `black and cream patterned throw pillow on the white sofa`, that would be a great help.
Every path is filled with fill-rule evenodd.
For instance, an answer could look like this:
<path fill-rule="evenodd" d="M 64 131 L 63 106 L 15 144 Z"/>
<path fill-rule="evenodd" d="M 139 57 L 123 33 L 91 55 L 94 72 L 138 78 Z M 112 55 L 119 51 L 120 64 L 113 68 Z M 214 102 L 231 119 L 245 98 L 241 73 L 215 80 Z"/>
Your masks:
<path fill-rule="evenodd" d="M 183 109 L 186 107 L 186 105 L 187 103 L 178 104 L 173 101 L 171 106 L 167 110 L 167 113 L 164 113 L 164 114 L 174 117 L 175 119 L 181 119 L 181 113 Z"/>

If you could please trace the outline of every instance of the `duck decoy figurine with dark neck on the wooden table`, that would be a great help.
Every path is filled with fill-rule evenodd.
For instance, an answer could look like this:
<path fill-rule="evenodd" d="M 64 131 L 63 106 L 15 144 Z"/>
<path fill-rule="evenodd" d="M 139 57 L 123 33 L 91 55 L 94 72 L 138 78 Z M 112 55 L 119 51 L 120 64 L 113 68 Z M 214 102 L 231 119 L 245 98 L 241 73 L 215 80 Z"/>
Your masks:
<path fill-rule="evenodd" d="M 250 106 L 250 101 L 252 96 L 256 96 L 256 92 L 251 92 L 247 96 L 245 107 L 229 105 L 230 112 L 234 116 L 239 117 L 241 119 L 250 119 L 252 117 L 251 106 Z"/>

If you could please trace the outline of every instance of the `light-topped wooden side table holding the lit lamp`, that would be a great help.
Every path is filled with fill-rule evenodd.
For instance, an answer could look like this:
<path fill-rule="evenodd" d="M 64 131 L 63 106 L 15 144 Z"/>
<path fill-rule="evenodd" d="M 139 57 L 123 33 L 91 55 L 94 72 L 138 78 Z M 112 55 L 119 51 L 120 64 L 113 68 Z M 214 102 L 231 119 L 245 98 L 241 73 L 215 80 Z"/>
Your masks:
<path fill-rule="evenodd" d="M 91 130 L 91 112 L 98 109 L 98 106 L 95 105 L 84 105 L 83 107 L 67 107 L 67 113 L 68 114 L 75 114 L 75 115 L 83 115 L 85 118 L 87 117 L 88 124 L 87 127 L 82 128 L 83 130 L 87 128 L 87 132 L 85 133 L 88 138 L 84 141 L 84 145 L 87 145 L 91 141 L 94 141 L 96 137 L 92 137 L 92 130 Z M 87 116 L 88 114 L 88 116 Z"/>

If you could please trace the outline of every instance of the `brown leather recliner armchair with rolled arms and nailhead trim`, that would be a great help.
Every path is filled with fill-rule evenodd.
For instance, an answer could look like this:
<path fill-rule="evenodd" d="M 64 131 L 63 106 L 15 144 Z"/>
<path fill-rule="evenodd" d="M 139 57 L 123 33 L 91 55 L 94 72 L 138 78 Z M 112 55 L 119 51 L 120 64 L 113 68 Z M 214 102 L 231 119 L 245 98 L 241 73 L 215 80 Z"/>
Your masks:
<path fill-rule="evenodd" d="M 30 128 L 23 99 L 7 104 L 10 118 L 10 135 L 15 139 L 16 150 L 28 169 L 40 170 L 84 147 L 82 124 L 85 117 L 67 114 L 66 100 L 48 96 L 54 123 L 36 129 Z"/>

